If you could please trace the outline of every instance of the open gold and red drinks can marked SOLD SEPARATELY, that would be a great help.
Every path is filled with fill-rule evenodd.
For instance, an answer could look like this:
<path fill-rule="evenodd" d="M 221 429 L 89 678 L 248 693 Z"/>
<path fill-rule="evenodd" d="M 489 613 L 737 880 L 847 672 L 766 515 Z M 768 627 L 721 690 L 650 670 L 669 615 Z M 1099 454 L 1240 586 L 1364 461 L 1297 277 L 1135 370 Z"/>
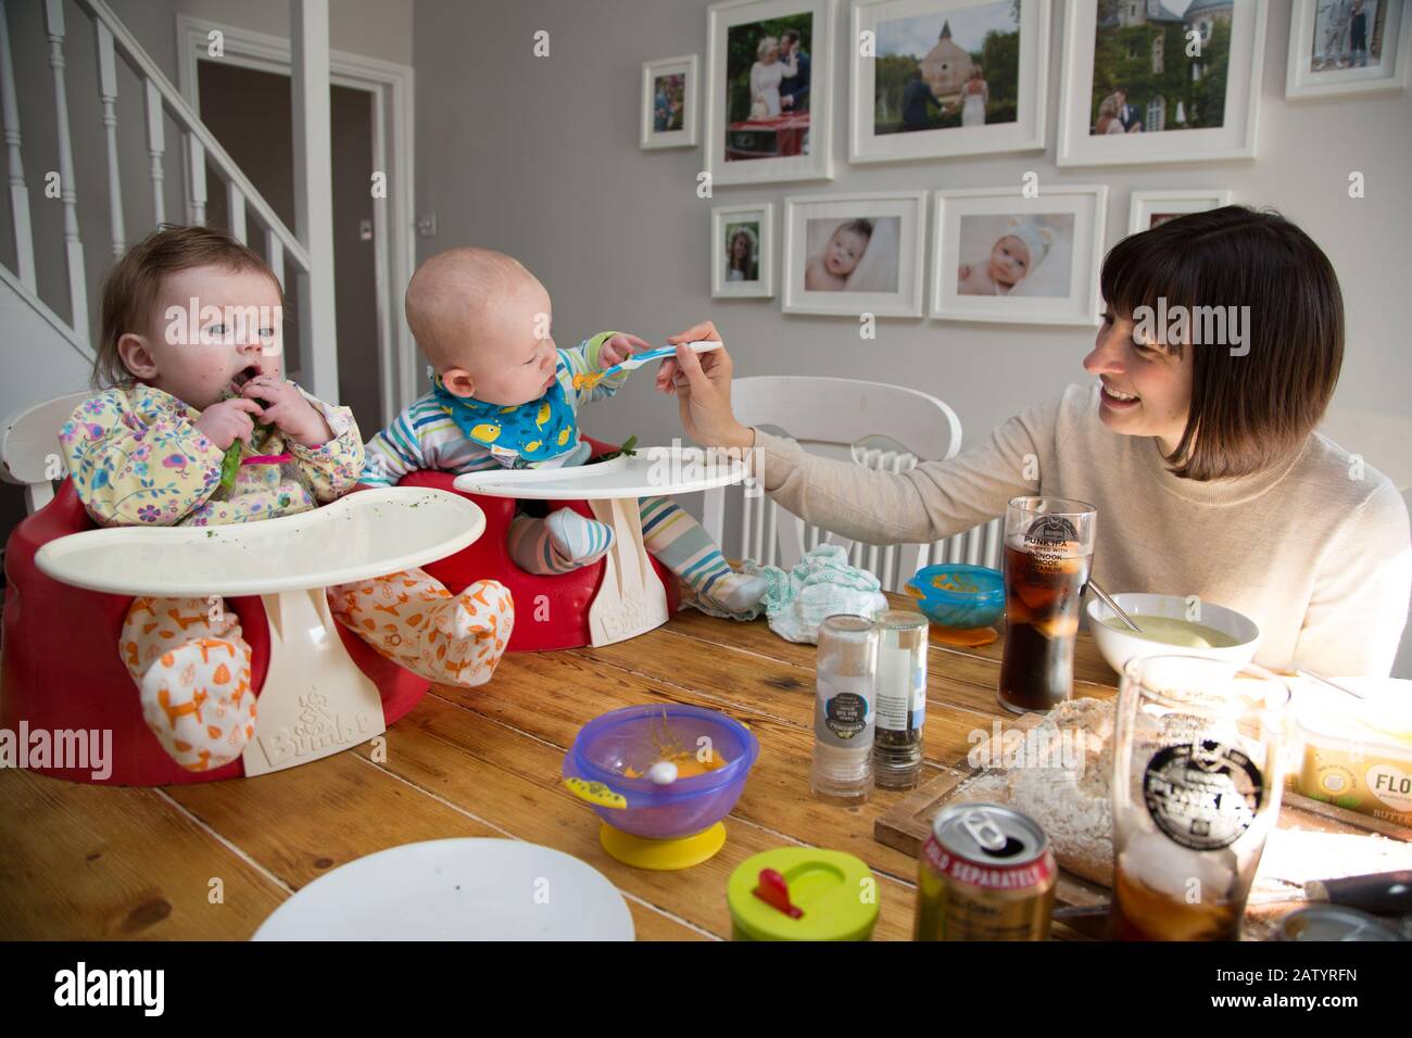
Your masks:
<path fill-rule="evenodd" d="M 915 941 L 1043 941 L 1059 867 L 1028 815 L 998 804 L 938 812 L 922 849 Z"/>

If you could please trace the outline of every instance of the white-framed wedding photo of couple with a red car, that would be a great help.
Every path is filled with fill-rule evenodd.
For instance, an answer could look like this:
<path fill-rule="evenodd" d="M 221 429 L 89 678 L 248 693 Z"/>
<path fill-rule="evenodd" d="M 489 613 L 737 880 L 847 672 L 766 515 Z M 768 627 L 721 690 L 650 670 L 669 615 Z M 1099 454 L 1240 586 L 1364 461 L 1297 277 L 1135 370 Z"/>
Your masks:
<path fill-rule="evenodd" d="M 799 113 L 761 114 L 748 106 L 750 71 L 730 69 L 731 31 L 748 32 L 757 23 L 792 16 L 810 16 L 810 59 L 808 120 Z M 706 10 L 706 171 L 713 186 L 767 184 L 774 181 L 833 179 L 833 24 L 837 0 L 727 0 Z M 765 34 L 761 34 L 764 38 Z M 746 119 L 731 119 L 731 85 L 746 76 Z M 737 96 L 738 96 L 738 86 Z M 782 97 L 781 97 L 782 100 Z M 743 107 L 737 105 L 737 107 Z M 768 112 L 768 105 L 765 106 Z M 764 151 L 760 158 L 743 155 Z M 775 153 L 794 154 L 775 154 Z"/>

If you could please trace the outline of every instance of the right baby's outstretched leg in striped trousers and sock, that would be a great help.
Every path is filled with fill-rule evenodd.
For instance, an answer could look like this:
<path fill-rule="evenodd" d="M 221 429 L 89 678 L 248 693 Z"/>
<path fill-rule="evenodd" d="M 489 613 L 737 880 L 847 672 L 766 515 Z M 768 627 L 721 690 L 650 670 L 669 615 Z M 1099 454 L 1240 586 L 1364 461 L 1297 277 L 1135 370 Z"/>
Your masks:
<path fill-rule="evenodd" d="M 642 544 L 695 592 L 688 604 L 736 620 L 755 614 L 768 589 L 764 578 L 734 572 L 710 534 L 675 501 L 644 497 L 638 507 Z"/>

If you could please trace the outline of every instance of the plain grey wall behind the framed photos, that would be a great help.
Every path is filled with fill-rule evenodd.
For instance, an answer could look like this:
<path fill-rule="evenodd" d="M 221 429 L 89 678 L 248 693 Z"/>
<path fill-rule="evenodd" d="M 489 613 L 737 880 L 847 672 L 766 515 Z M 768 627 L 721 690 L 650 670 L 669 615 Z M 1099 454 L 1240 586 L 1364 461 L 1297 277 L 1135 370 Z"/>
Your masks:
<path fill-rule="evenodd" d="M 785 316 L 778 298 L 712 299 L 710 208 L 772 199 L 778 219 L 789 193 L 979 188 L 1018 184 L 1022 171 L 1036 169 L 1042 185 L 1107 184 L 1111 244 L 1125 233 L 1131 191 L 1224 186 L 1238 201 L 1274 205 L 1298 220 L 1339 270 L 1350 346 L 1336 405 L 1404 426 L 1412 418 L 1412 364 L 1401 308 L 1391 305 L 1406 291 L 1412 95 L 1286 103 L 1286 3 L 1271 4 L 1254 162 L 1059 171 L 1053 127 L 1066 6 L 1055 4 L 1046 154 L 850 167 L 849 4 L 840 3 L 834 179 L 717 188 L 714 199 L 698 199 L 700 148 L 638 148 L 638 83 L 642 61 L 676 54 L 699 54 L 705 72 L 706 7 L 706 0 L 417 0 L 417 203 L 439 219 L 422 254 L 477 243 L 520 257 L 554 298 L 561 345 L 604 328 L 659 340 L 710 316 L 740 374 L 812 371 L 915 386 L 950 402 L 974 442 L 1017 410 L 1083 380 L 1079 363 L 1093 333 L 882 321 L 875 342 L 860 342 L 849 318 Z M 532 56 L 537 30 L 551 34 L 548 58 Z M 1347 198 L 1350 169 L 1367 175 L 1363 201 Z M 678 432 L 671 402 L 642 376 L 613 407 L 599 407 L 589 426 L 599 436 L 635 432 L 647 442 Z M 1353 446 L 1370 459 L 1391 456 L 1372 448 Z"/>

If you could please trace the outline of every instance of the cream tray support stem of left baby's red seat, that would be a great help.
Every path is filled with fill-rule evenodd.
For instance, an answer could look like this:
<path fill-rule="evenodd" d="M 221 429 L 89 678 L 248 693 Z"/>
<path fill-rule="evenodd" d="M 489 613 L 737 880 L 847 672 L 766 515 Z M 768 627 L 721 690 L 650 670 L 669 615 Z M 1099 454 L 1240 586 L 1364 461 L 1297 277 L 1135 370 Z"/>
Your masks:
<path fill-rule="evenodd" d="M 347 750 L 387 730 L 383 699 L 343 648 L 323 587 L 263 596 L 270 668 L 246 777 Z"/>

